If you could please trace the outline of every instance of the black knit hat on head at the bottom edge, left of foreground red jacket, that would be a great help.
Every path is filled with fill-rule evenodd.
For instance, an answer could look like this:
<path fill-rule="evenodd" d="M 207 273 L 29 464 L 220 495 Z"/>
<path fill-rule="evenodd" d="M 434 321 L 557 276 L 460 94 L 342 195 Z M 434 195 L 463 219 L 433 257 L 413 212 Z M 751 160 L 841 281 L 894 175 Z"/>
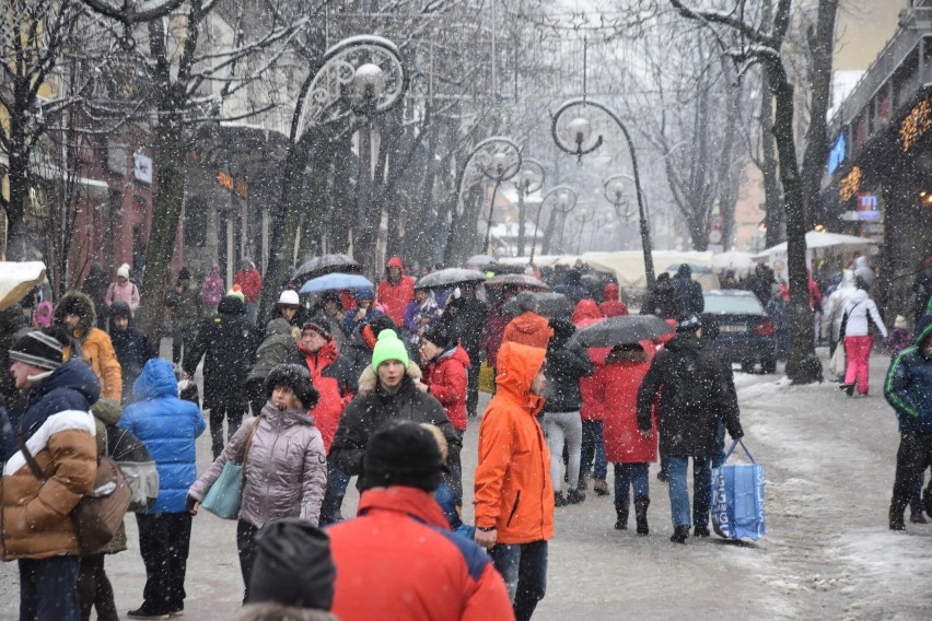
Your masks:
<path fill-rule="evenodd" d="M 246 604 L 330 609 L 337 569 L 323 530 L 303 519 L 280 519 L 259 529 L 255 546 Z"/>

